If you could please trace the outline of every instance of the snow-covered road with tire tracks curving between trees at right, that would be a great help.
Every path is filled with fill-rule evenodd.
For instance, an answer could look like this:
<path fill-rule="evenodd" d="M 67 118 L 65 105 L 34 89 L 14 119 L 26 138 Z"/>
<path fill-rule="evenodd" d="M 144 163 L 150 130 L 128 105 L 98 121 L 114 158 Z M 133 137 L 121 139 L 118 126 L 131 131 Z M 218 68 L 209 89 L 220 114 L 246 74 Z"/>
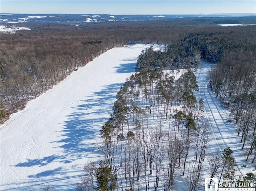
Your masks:
<path fill-rule="evenodd" d="M 196 93 L 197 100 L 204 100 L 205 117 L 210 124 L 210 143 L 208 144 L 208 153 L 223 152 L 225 148 L 230 147 L 234 151 L 232 155 L 238 165 L 236 175 L 243 176 L 248 172 L 252 172 L 254 165 L 247 163 L 244 157 L 244 150 L 240 143 L 240 137 L 237 136 L 237 127 L 232 121 L 233 117 L 230 112 L 224 108 L 216 95 L 208 88 L 207 71 L 212 67 L 212 64 L 202 61 L 202 74 L 198 79 L 199 92 Z M 243 167 L 246 165 L 246 167 Z"/>

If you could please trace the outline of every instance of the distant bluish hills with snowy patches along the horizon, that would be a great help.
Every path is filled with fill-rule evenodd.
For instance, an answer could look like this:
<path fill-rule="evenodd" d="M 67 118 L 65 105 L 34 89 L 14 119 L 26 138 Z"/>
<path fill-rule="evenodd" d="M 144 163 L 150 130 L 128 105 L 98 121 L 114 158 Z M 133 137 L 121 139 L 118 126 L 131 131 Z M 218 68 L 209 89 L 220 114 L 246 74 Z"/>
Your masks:
<path fill-rule="evenodd" d="M 20 24 L 25 22 L 36 23 L 71 23 L 86 22 L 118 22 L 118 21 L 147 21 L 174 18 L 201 18 L 201 17 L 244 17 L 255 14 L 163 14 L 163 15 L 110 15 L 110 14 L 0 14 L 2 24 Z"/>

